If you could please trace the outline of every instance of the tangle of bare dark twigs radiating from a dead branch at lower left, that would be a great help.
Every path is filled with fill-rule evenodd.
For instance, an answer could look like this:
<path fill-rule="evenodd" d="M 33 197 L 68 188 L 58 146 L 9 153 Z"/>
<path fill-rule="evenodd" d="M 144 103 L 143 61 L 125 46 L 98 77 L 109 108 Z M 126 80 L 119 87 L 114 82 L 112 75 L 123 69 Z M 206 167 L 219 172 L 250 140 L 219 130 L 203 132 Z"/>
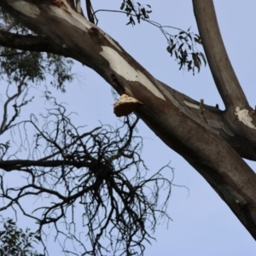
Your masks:
<path fill-rule="evenodd" d="M 149 177 L 140 156 L 142 137 L 134 134 L 138 119 L 125 117 L 119 128 L 102 125 L 84 132 L 63 105 L 49 101 L 52 108 L 42 128 L 33 115 L 13 128 L 25 136 L 21 144 L 31 141 L 27 131 L 36 131 L 26 144 L 29 158 L 10 159 L 8 147 L 0 151 L 0 211 L 20 210 L 35 219 L 40 236 L 52 225 L 57 237 L 79 244 L 77 255 L 143 255 L 159 218 L 170 219 L 166 207 L 172 181 L 163 177 L 163 169 Z M 16 171 L 19 185 L 9 182 L 7 187 L 5 181 Z M 161 188 L 166 190 L 160 200 Z M 32 201 L 32 208 L 25 200 Z M 63 251 L 70 253 L 70 248 Z"/>

